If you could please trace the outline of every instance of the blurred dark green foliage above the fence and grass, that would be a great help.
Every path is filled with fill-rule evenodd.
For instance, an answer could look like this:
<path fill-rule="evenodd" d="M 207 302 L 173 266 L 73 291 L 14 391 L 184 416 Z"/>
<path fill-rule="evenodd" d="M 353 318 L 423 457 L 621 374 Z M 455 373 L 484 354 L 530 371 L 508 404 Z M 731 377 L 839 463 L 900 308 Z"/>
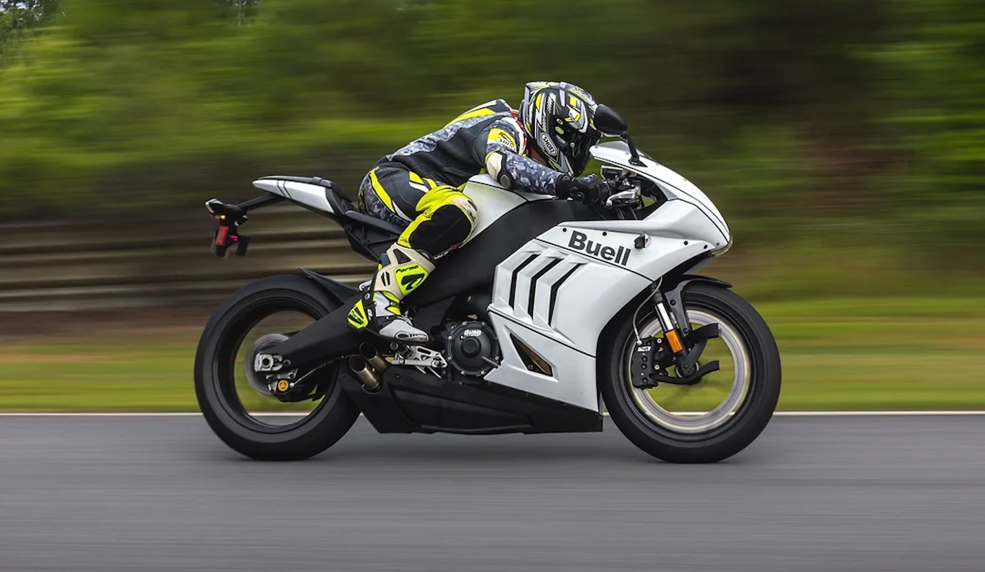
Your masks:
<path fill-rule="evenodd" d="M 244 198 L 271 171 L 352 189 L 461 110 L 563 79 L 743 240 L 950 263 L 985 222 L 980 0 L 2 0 L 0 50 L 7 214 Z"/>

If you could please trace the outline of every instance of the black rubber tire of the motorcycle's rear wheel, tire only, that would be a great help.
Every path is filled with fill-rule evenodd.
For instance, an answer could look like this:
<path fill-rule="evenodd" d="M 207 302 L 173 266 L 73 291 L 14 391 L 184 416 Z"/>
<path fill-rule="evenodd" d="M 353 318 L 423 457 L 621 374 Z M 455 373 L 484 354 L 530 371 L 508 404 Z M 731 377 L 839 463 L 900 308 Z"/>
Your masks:
<path fill-rule="evenodd" d="M 195 355 L 195 395 L 205 420 L 224 443 L 251 459 L 296 461 L 321 453 L 349 431 L 359 410 L 343 393 L 334 366 L 317 372 L 326 376 L 327 384 L 318 406 L 289 425 L 254 420 L 243 411 L 231 382 L 239 343 L 264 315 L 288 310 L 318 319 L 338 308 L 309 279 L 273 276 L 242 287 L 216 311 Z"/>

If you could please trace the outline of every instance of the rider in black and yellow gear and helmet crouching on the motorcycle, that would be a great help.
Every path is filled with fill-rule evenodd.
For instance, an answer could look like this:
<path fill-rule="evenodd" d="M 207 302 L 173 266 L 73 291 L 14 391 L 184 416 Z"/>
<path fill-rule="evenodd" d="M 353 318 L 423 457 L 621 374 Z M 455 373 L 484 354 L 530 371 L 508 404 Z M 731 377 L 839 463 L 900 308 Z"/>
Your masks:
<path fill-rule="evenodd" d="M 435 260 L 471 236 L 476 206 L 462 189 L 473 175 L 487 171 L 512 191 L 596 202 L 607 183 L 578 176 L 600 138 L 596 107 L 577 86 L 532 82 L 519 111 L 495 99 L 379 159 L 362 179 L 359 209 L 405 229 L 349 311 L 350 327 L 427 342 L 427 333 L 404 315 L 401 300 L 421 286 Z"/>

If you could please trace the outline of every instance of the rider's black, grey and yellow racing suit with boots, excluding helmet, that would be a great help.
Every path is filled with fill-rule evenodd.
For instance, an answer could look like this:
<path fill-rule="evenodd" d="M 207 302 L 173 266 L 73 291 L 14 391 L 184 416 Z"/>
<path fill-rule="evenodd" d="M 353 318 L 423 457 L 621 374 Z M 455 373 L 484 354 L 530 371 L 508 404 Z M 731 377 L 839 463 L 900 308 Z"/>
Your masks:
<path fill-rule="evenodd" d="M 475 229 L 476 206 L 462 193 L 469 178 L 486 171 L 509 190 L 556 194 L 560 173 L 527 157 L 528 150 L 516 112 L 495 99 L 379 159 L 362 180 L 359 209 L 404 231 L 380 260 L 371 288 L 350 311 L 350 326 L 426 342 L 427 334 L 402 317 L 400 300 L 421 286 L 435 260 L 468 240 Z"/>

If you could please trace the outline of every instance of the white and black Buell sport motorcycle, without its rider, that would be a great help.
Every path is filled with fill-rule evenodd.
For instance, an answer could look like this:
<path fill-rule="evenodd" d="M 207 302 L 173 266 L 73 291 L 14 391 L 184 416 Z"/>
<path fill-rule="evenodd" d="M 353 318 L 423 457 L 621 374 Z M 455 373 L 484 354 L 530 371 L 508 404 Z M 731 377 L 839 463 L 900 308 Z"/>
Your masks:
<path fill-rule="evenodd" d="M 667 462 L 713 463 L 750 445 L 776 408 L 781 366 L 754 307 L 695 274 L 731 247 L 729 227 L 689 180 L 636 149 L 615 110 L 600 105 L 595 122 L 608 140 L 591 155 L 613 187 L 599 205 L 509 192 L 487 174 L 468 181 L 473 235 L 405 299 L 426 345 L 350 329 L 361 289 L 309 270 L 231 294 L 195 356 L 215 433 L 253 459 L 299 460 L 360 413 L 380 433 L 494 434 L 601 431 L 608 410 Z M 283 201 L 340 224 L 372 261 L 402 230 L 326 179 L 253 184 L 267 194 L 207 203 L 219 256 L 245 255 L 247 214 Z"/>

